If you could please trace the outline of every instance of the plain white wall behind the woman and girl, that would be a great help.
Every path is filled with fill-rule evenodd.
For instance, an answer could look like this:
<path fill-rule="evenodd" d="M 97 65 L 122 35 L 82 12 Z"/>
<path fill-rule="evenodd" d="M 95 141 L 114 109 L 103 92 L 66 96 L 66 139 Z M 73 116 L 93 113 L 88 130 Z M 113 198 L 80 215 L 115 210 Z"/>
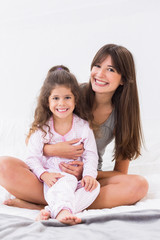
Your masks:
<path fill-rule="evenodd" d="M 160 118 L 159 0 L 0 0 L 0 116 L 26 118 L 50 67 L 80 82 L 106 43 L 134 55 L 143 121 Z"/>

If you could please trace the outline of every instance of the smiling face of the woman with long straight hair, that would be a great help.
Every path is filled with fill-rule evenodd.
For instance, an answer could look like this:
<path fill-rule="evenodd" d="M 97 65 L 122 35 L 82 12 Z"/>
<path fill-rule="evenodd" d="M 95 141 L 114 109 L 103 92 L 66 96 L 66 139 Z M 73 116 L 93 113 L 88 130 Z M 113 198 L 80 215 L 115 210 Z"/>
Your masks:
<path fill-rule="evenodd" d="M 91 70 L 91 85 L 96 93 L 112 93 L 119 85 L 123 85 L 121 74 L 119 74 L 112 64 L 111 56 L 100 64 L 93 66 Z"/>

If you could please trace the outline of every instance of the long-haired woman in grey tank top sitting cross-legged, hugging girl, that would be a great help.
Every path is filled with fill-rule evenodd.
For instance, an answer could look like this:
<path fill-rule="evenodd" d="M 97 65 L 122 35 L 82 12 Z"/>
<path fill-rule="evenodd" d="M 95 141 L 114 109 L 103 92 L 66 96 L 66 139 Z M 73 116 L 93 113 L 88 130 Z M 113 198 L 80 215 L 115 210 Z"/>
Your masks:
<path fill-rule="evenodd" d="M 101 190 L 89 208 L 134 204 L 146 195 L 148 183 L 141 176 L 127 175 L 129 162 L 140 155 L 142 142 L 132 54 L 115 44 L 103 46 L 92 61 L 90 81 L 82 86 L 82 92 L 86 111 L 89 112 L 89 123 L 96 136 L 99 170 L 104 149 L 115 138 L 114 169 L 98 172 Z M 82 145 L 73 145 L 78 141 L 73 139 L 46 145 L 44 155 L 76 160 L 83 153 Z M 83 166 L 81 162 L 74 161 L 72 164 L 61 164 L 61 169 L 80 179 Z M 1 157 L 0 184 L 17 198 L 7 201 L 8 205 L 40 209 L 41 205 L 46 204 L 42 183 L 19 159 Z"/>

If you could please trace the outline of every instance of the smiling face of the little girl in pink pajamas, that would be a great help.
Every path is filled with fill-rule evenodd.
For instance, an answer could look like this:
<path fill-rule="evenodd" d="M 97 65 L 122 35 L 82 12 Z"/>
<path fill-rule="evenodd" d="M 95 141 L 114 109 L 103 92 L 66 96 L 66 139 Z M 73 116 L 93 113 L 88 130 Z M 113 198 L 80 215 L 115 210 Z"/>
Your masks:
<path fill-rule="evenodd" d="M 48 99 L 49 109 L 57 118 L 72 117 L 75 108 L 75 97 L 70 88 L 56 86 Z"/>

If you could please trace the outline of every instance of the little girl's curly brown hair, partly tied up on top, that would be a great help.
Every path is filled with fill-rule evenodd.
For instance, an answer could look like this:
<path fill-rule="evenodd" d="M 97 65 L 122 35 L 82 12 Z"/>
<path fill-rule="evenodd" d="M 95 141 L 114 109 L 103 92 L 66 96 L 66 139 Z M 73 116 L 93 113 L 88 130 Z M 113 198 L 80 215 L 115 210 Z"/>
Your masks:
<path fill-rule="evenodd" d="M 87 113 L 84 111 L 83 102 L 80 94 L 80 87 L 77 82 L 76 77 L 69 71 L 69 69 L 63 65 L 57 65 L 52 67 L 47 74 L 47 77 L 43 83 L 43 86 L 40 90 L 40 95 L 38 97 L 37 107 L 34 113 L 34 121 L 31 124 L 27 139 L 34 133 L 36 130 L 41 129 L 44 132 L 44 137 L 47 132 L 44 129 L 44 126 L 47 126 L 49 131 L 50 128 L 47 125 L 47 121 L 52 116 L 52 112 L 49 109 L 49 96 L 56 86 L 65 86 L 71 89 L 75 97 L 75 109 L 73 113 L 79 117 L 87 120 Z"/>

